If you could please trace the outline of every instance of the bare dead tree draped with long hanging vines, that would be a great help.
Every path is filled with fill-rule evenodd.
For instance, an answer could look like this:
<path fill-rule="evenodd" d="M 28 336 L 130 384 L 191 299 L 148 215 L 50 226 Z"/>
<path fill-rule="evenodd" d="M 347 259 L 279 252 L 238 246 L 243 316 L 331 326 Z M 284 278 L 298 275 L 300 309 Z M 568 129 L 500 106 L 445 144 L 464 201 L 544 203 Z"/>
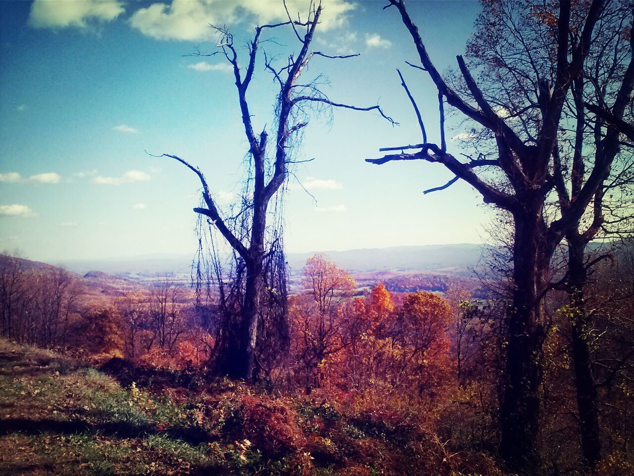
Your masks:
<path fill-rule="evenodd" d="M 247 154 L 249 168 L 252 171 L 252 177 L 249 180 L 252 187 L 248 192 L 245 187 L 245 193 L 241 197 L 242 206 L 236 215 L 228 216 L 222 213 L 214 200 L 209 182 L 199 168 L 176 155 L 163 154 L 181 162 L 198 176 L 202 184 L 204 206 L 195 208 L 194 211 L 204 216 L 210 227 L 215 228 L 221 234 L 236 256 L 238 271 L 235 279 L 238 284 L 231 292 L 233 296 L 237 296 L 238 315 L 235 321 L 226 322 L 223 329 L 224 334 L 219 335 L 222 348 L 221 355 L 218 356 L 221 367 L 219 371 L 233 378 L 243 378 L 250 381 L 257 377 L 258 327 L 266 329 L 266 322 L 259 322 L 259 316 L 263 315 L 262 305 L 263 303 L 266 305 L 269 298 L 276 299 L 276 296 L 285 296 L 286 293 L 284 271 L 280 271 L 280 266 L 285 267 L 283 255 L 281 260 L 273 260 L 276 262 L 271 265 L 271 256 L 277 256 L 281 249 L 281 235 L 275 234 L 275 230 L 268 228 L 268 217 L 271 218 L 268 208 L 269 204 L 275 201 L 276 195 L 283 192 L 283 185 L 288 178 L 289 166 L 295 162 L 291 158 L 294 147 L 297 145 L 302 129 L 306 128 L 308 124 L 311 112 L 321 110 L 323 107 L 374 110 L 380 116 L 394 123 L 392 119 L 385 116 L 378 105 L 356 107 L 332 102 L 318 89 L 318 84 L 315 81 L 304 84 L 299 81 L 308 63 L 316 57 L 344 59 L 358 56 L 332 56 L 311 49 L 321 11 L 321 6 L 313 7 L 305 22 L 291 20 L 289 15 L 287 22 L 256 27 L 255 35 L 248 45 L 247 67 L 244 70 L 238 64 L 238 50 L 234 45 L 233 35 L 225 28 L 214 27 L 220 37 L 219 51 L 209 55 L 196 53 L 200 56 L 223 55 L 230 63 L 235 77 L 244 133 L 247 143 L 249 143 Z M 262 34 L 280 27 L 292 29 L 294 37 L 299 42 L 299 51 L 289 55 L 288 61 L 284 62 L 281 67 L 276 66 L 275 58 L 269 58 L 264 52 L 264 67 L 273 76 L 274 83 L 279 86 L 275 117 L 271 121 L 275 124 L 274 132 L 272 131 L 275 136 L 271 144 L 266 125 L 261 133 L 256 133 L 257 129 L 252 121 L 247 92 L 256 71 L 259 49 L 263 43 Z M 271 235 L 275 235 L 275 237 L 271 239 Z M 276 286 L 270 283 L 268 286 L 264 286 L 269 265 L 277 267 L 278 274 L 281 275 Z M 200 269 L 197 272 L 200 272 Z M 217 267 L 214 272 L 217 277 L 220 275 Z M 223 280 L 217 279 L 216 281 L 221 288 L 220 300 L 223 301 L 226 299 L 221 284 Z M 281 312 L 282 314 L 286 313 L 285 304 L 282 305 Z"/>

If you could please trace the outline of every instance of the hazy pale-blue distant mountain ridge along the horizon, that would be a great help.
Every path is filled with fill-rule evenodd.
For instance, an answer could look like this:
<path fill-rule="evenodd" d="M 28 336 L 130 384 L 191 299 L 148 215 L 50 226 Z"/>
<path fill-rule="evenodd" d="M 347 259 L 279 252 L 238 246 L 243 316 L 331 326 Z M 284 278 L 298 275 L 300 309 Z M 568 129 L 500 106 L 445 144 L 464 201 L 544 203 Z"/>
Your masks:
<path fill-rule="evenodd" d="M 477 267 L 484 245 L 438 244 L 427 246 L 393 246 L 391 248 L 349 249 L 346 251 L 322 251 L 341 268 L 353 272 L 369 271 L 423 271 L 448 274 L 468 274 Z M 301 270 L 310 253 L 288 253 L 288 265 Z M 66 260 L 68 270 L 85 274 L 100 270 L 119 277 L 138 279 L 155 275 L 190 273 L 193 255 L 141 255 L 110 260 Z"/>

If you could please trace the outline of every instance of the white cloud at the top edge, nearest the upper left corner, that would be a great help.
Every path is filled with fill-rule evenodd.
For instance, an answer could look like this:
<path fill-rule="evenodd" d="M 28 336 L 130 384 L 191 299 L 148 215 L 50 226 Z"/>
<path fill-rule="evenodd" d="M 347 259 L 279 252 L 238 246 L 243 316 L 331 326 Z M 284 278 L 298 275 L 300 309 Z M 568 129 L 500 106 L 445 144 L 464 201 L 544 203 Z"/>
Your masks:
<path fill-rule="evenodd" d="M 31 4 L 29 25 L 34 28 L 86 29 L 90 25 L 110 22 L 126 9 L 118 0 L 35 0 Z"/>

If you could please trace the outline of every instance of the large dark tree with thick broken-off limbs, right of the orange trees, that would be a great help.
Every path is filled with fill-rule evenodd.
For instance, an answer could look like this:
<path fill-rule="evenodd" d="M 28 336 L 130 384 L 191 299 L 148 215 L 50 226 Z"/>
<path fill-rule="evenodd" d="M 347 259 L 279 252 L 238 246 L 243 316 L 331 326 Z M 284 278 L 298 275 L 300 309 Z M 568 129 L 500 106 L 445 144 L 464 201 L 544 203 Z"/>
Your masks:
<path fill-rule="evenodd" d="M 480 73 L 478 81 L 463 57 L 457 57 L 462 91 L 446 81 L 437 70 L 404 1 L 389 0 L 385 8 L 391 6 L 398 10 L 413 39 L 422 65 L 417 68 L 424 70 L 436 86 L 441 140 L 439 144 L 427 142 L 418 108 L 401 76 L 410 101 L 417 110 L 423 143 L 381 149 L 400 152 L 366 160 L 374 164 L 401 160 L 442 164 L 455 177 L 428 192 L 443 190 L 457 180 L 463 180 L 482 195 L 485 203 L 512 215 L 514 288 L 512 305 L 507 313 L 508 345 L 500 409 L 500 453 L 510 468 L 530 473 L 537 462 L 535 447 L 540 411 L 543 303 L 550 289 L 550 260 L 558 244 L 578 225 L 609 174 L 614 158 L 611 149 L 619 147 L 617 140 L 605 140 L 605 153 L 588 164 L 587 178 L 576 199 L 550 220 L 546 203 L 556 185 L 553 176 L 556 154 L 553 151 L 558 147 L 562 132 L 564 105 L 573 94 L 571 89 L 575 81 L 583 76 L 595 27 L 604 15 L 605 1 L 593 0 L 588 5 L 579 4 L 573 8 L 570 1 L 562 0 L 555 11 L 548 10 L 543 3 L 520 0 L 485 4 L 479 19 L 484 28 L 477 32 L 474 39 L 474 43 L 479 44 L 475 44 L 475 48 L 474 43 L 471 45 L 472 58 L 475 58 L 475 67 Z M 521 17 L 521 21 L 512 22 L 513 15 L 515 19 Z M 533 26 L 534 29 L 530 30 Z M 513 36 L 509 29 L 524 31 Z M 530 35 L 527 43 L 524 34 Z M 508 46 L 509 51 L 499 51 L 500 45 Z M 517 67 L 520 63 L 521 67 Z M 630 63 L 617 88 L 621 100 L 611 111 L 617 116 L 631 98 L 634 86 L 632 69 Z M 482 135 L 491 144 L 488 155 L 460 161 L 448 152 L 444 102 L 481 129 Z M 495 158 L 489 158 L 491 155 Z"/>

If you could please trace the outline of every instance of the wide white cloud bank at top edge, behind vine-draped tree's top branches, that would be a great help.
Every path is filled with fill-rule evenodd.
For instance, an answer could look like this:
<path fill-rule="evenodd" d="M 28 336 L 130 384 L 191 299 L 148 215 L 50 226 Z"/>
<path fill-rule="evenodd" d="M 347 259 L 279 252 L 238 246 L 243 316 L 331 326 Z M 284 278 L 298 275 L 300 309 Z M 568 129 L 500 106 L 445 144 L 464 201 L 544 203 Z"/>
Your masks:
<path fill-rule="evenodd" d="M 302 19 L 310 0 L 287 0 L 288 11 Z M 328 0 L 323 3 L 320 30 L 339 27 L 354 10 L 347 0 Z M 146 36 L 161 40 L 204 41 L 214 39 L 216 33 L 209 25 L 235 24 L 243 21 L 271 23 L 287 20 L 284 4 L 278 0 L 172 0 L 139 8 L 130 18 L 130 25 Z"/>

